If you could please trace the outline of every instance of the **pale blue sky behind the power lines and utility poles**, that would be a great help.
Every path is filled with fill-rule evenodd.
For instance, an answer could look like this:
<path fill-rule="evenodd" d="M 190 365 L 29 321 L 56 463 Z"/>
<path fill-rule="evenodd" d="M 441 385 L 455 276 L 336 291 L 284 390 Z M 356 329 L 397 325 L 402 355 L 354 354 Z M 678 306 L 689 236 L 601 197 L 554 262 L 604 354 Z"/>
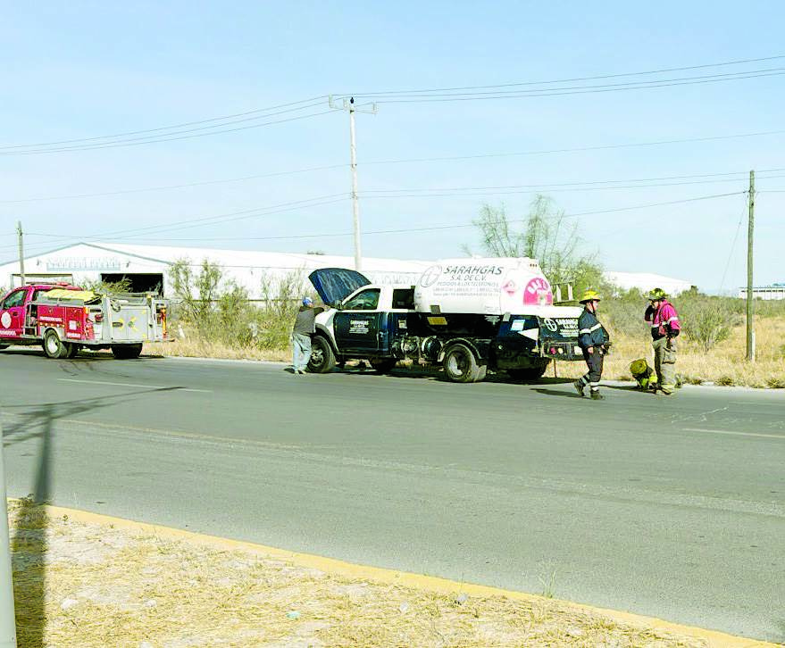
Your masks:
<path fill-rule="evenodd" d="M 0 146 L 157 129 L 329 94 L 490 86 L 772 57 L 785 54 L 783 20 L 785 5 L 778 2 L 10 4 L 0 25 L 5 62 Z M 785 69 L 785 58 L 607 82 L 780 68 Z M 785 130 L 783 88 L 785 76 L 777 75 L 488 101 L 382 101 L 378 114 L 357 117 L 360 190 L 601 180 L 621 180 L 617 184 L 626 187 L 629 183 L 623 181 L 629 179 L 738 172 L 670 181 L 712 180 L 703 184 L 542 190 L 568 214 L 607 211 L 571 219 L 578 223 L 584 249 L 596 251 L 607 269 L 661 272 L 706 290 L 728 290 L 746 281 L 744 174 L 759 171 L 756 188 L 761 192 L 785 189 L 785 133 L 558 154 L 369 162 Z M 326 111 L 326 104 L 314 102 L 310 112 Z M 278 119 L 305 113 L 288 112 Z M 344 198 L 350 191 L 347 166 L 286 172 L 346 165 L 346 112 L 210 137 L 11 154 L 23 150 L 0 149 L 3 261 L 13 258 L 16 220 L 30 233 L 26 242 L 32 252 L 68 242 L 59 236 L 97 236 L 128 243 L 353 253 L 351 236 L 285 238 L 350 233 L 347 200 L 295 205 L 287 212 L 212 225 L 163 227 L 315 196 Z M 768 169 L 782 171 L 762 171 Z M 30 200 L 274 172 L 286 174 Z M 394 198 L 366 193 L 361 200 L 363 230 L 463 225 L 476 218 L 484 203 L 505 204 L 511 217 L 520 218 L 533 196 L 524 189 L 483 191 L 433 192 L 438 196 L 401 192 L 412 197 Z M 734 195 L 611 211 L 726 193 Z M 785 193 L 757 196 L 756 284 L 785 281 L 780 261 L 783 206 Z M 119 230 L 131 231 L 104 236 Z M 369 256 L 434 259 L 459 255 L 462 245 L 477 247 L 472 228 L 363 236 L 363 253 Z"/>

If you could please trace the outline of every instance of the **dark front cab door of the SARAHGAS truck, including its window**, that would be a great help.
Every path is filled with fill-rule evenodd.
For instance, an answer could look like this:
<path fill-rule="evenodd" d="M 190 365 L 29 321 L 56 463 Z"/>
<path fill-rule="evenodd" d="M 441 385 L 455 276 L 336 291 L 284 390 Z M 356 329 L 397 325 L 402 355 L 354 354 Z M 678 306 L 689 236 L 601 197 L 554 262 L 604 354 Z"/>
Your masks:
<path fill-rule="evenodd" d="M 379 311 L 379 288 L 366 288 L 351 297 L 335 314 L 333 327 L 341 353 L 379 352 L 387 313 Z"/>

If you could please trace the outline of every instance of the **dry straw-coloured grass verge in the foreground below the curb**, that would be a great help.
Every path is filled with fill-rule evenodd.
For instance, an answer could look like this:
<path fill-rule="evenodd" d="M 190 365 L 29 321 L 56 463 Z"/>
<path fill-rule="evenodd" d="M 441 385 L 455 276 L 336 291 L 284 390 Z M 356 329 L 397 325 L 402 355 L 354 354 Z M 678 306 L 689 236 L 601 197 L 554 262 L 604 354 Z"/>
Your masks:
<path fill-rule="evenodd" d="M 11 501 L 20 648 L 706 645 L 538 596 L 435 594 Z"/>

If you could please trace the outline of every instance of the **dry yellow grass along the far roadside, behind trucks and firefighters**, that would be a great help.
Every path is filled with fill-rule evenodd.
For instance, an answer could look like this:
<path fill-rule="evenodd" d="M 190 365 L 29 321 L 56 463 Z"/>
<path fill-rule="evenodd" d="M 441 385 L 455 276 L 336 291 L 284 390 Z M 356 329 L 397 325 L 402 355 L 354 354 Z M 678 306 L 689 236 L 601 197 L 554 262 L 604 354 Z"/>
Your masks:
<path fill-rule="evenodd" d="M 696 343 L 679 338 L 676 370 L 687 383 L 714 382 L 718 385 L 785 388 L 785 319 L 765 318 L 756 324 L 756 363 L 744 361 L 746 356 L 745 328 L 736 327 L 730 339 L 706 353 Z M 221 342 L 200 340 L 196 336 L 168 344 L 146 345 L 145 353 L 168 356 L 230 358 L 234 360 L 290 361 L 289 349 L 270 350 L 256 347 L 230 346 Z M 630 380 L 630 362 L 647 358 L 654 365 L 647 331 L 639 337 L 614 336 L 613 353 L 605 360 L 604 377 Z M 561 362 L 558 375 L 578 378 L 586 372 L 582 362 Z M 548 371 L 551 375 L 551 371 Z"/>

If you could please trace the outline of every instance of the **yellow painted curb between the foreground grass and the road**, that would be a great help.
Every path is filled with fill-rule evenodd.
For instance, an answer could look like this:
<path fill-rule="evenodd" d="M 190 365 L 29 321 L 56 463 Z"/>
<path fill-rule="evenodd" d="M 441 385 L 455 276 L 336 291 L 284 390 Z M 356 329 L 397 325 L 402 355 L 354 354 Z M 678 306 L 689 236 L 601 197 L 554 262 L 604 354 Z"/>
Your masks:
<path fill-rule="evenodd" d="M 146 522 L 138 522 L 131 519 L 113 518 L 100 513 L 78 511 L 76 509 L 66 509 L 61 506 L 46 506 L 46 511 L 51 517 L 67 517 L 68 519 L 72 519 L 77 522 L 112 525 L 115 528 L 127 528 L 136 531 L 143 531 L 152 536 L 170 540 L 181 540 L 190 544 L 209 546 L 214 549 L 228 551 L 239 550 L 249 553 L 262 554 L 266 557 L 289 561 L 298 567 L 319 569 L 330 574 L 337 574 L 349 578 L 373 580 L 378 583 L 384 583 L 388 585 L 413 587 L 438 594 L 463 592 L 465 594 L 473 594 L 475 596 L 505 596 L 506 598 L 517 601 L 553 601 L 553 599 L 544 599 L 543 597 L 536 594 L 514 592 L 512 590 L 505 590 L 498 587 L 473 585 L 471 583 L 459 583 L 454 580 L 448 580 L 447 578 L 424 576 L 422 574 L 396 571 L 395 569 L 383 569 L 380 567 L 356 565 L 351 562 L 338 561 L 334 558 L 324 558 L 323 556 L 316 556 L 310 553 L 288 552 L 284 549 L 268 547 L 264 546 L 263 544 L 253 544 L 240 540 L 230 540 L 228 538 L 222 538 L 218 536 L 205 536 L 204 534 L 194 533 L 193 531 L 184 531 L 179 528 L 160 527 L 158 525 L 149 524 Z M 562 602 L 565 605 L 572 605 L 579 610 L 584 610 L 595 614 L 602 614 L 621 623 L 631 623 L 639 626 L 652 627 L 678 633 L 683 636 L 702 639 L 706 642 L 706 644 L 711 646 L 711 648 L 776 648 L 776 646 L 779 645 L 770 644 L 764 641 L 756 641 L 755 639 L 748 639 L 747 637 L 727 635 L 722 632 L 706 630 L 701 627 L 682 626 L 678 623 L 671 623 L 670 621 L 664 621 L 663 619 L 656 619 L 656 617 L 645 617 L 639 614 L 632 614 L 631 612 L 596 608 L 592 607 L 591 605 L 584 605 L 582 603 L 574 603 L 571 601 L 558 602 Z"/>

